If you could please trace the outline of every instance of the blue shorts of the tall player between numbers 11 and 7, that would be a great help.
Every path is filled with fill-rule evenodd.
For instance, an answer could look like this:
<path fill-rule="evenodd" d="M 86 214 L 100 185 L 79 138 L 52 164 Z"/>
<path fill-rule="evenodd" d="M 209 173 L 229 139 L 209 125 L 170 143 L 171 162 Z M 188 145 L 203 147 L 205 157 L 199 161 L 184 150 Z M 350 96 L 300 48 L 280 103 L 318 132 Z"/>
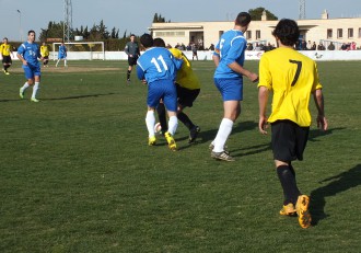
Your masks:
<path fill-rule="evenodd" d="M 243 79 L 242 78 L 214 78 L 214 84 L 221 92 L 223 101 L 243 100 Z"/>

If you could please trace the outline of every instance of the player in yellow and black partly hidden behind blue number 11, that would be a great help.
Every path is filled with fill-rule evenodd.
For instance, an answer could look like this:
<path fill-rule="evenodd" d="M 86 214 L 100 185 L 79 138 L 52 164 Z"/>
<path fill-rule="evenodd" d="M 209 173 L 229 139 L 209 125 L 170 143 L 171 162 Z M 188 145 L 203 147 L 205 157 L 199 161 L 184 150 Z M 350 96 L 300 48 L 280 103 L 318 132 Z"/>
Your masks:
<path fill-rule="evenodd" d="M 165 47 L 165 43 L 162 38 L 154 38 L 154 46 L 156 47 Z M 177 48 L 168 49 L 172 55 L 178 59 L 183 60 L 182 68 L 177 71 L 175 84 L 177 88 L 177 97 L 178 97 L 178 111 L 177 117 L 178 119 L 188 128 L 189 130 L 189 139 L 188 142 L 191 143 L 196 140 L 198 133 L 200 131 L 200 127 L 196 126 L 187 114 L 184 113 L 185 107 L 191 107 L 193 103 L 197 99 L 200 92 L 200 82 L 193 71 L 190 61 L 188 58 L 182 53 L 182 50 Z M 156 107 L 158 116 L 160 118 L 160 123 L 162 126 L 162 131 L 166 131 L 166 115 L 165 107 L 163 103 L 160 103 Z"/>

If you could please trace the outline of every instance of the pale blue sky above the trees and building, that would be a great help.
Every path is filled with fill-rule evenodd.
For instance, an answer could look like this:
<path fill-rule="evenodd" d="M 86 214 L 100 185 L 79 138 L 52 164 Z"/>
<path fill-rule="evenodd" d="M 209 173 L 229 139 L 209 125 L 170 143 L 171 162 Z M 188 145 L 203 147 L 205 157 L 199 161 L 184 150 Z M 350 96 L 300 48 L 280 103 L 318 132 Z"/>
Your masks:
<path fill-rule="evenodd" d="M 298 20 L 299 0 L 71 0 L 72 27 L 98 25 L 108 32 L 119 30 L 121 37 L 149 32 L 155 13 L 172 22 L 233 21 L 241 11 L 263 7 L 278 19 Z M 305 0 L 306 19 L 321 19 L 327 10 L 330 19 L 361 18 L 360 0 Z M 37 4 L 34 4 L 37 3 Z M 0 0 L 0 38 L 26 41 L 27 31 L 39 35 L 50 21 L 65 20 L 65 0 Z M 18 12 L 19 10 L 19 12 Z M 230 27 L 231 28 L 231 27 Z"/>

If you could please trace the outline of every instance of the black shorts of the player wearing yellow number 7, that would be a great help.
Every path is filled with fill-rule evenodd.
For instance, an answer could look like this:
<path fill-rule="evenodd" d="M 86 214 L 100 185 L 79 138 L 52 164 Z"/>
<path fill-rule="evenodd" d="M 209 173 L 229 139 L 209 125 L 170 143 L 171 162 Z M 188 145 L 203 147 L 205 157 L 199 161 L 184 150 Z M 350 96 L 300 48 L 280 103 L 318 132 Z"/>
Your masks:
<path fill-rule="evenodd" d="M 277 120 L 271 124 L 273 159 L 282 162 L 303 160 L 310 127 L 300 127 L 291 120 Z"/>

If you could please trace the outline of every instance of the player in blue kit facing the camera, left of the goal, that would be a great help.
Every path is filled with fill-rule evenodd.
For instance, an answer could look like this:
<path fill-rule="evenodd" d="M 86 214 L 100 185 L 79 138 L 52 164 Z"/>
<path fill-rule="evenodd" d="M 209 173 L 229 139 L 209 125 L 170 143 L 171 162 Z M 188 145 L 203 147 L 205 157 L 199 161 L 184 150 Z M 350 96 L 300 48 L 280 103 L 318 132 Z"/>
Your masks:
<path fill-rule="evenodd" d="M 39 102 L 36 99 L 37 91 L 40 83 L 40 64 L 38 58 L 43 60 L 39 47 L 35 43 L 35 32 L 33 30 L 27 33 L 27 42 L 23 43 L 18 48 L 18 58 L 23 62 L 23 69 L 27 81 L 20 88 L 20 97 L 24 99 L 24 92 L 28 87 L 33 87 L 32 102 Z"/>

